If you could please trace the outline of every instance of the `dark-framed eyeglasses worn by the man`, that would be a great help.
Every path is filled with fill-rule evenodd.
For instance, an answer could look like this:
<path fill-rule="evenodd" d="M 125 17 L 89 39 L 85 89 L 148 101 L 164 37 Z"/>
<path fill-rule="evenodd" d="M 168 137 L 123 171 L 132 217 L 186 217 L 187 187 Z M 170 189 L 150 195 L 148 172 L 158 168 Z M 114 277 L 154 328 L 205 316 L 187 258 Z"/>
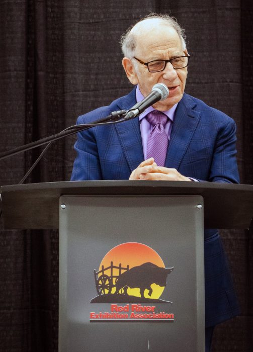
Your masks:
<path fill-rule="evenodd" d="M 134 59 L 142 63 L 143 65 L 146 65 L 149 72 L 160 72 L 163 71 L 164 68 L 166 67 L 167 62 L 170 62 L 175 69 L 179 68 L 184 68 L 188 65 L 190 55 L 188 56 L 179 56 L 179 57 L 174 57 L 173 59 L 169 60 L 154 60 L 154 61 L 149 61 L 149 62 L 144 62 L 137 57 L 134 56 Z"/>

